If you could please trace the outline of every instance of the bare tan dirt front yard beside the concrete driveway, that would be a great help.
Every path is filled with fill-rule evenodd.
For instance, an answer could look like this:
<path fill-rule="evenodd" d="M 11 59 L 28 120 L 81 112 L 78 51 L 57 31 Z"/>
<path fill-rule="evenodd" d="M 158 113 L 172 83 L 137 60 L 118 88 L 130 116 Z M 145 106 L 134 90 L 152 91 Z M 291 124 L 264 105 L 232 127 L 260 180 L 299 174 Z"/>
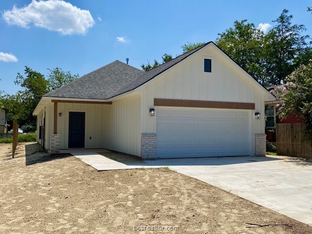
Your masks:
<path fill-rule="evenodd" d="M 0 144 L 0 233 L 312 233 L 311 226 L 165 168 L 97 172 L 73 156 L 38 150 L 20 144 L 9 159 L 10 144 Z"/>

